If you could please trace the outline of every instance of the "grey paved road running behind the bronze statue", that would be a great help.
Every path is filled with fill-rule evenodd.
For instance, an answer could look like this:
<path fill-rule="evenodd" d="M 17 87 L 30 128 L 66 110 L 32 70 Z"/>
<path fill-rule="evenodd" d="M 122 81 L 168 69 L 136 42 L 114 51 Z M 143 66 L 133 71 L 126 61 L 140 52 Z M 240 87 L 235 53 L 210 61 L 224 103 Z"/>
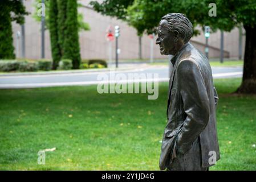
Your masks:
<path fill-rule="evenodd" d="M 137 82 L 149 80 L 152 73 L 152 80 L 169 81 L 168 67 L 164 65 L 147 65 L 147 64 L 135 64 L 133 67 L 130 65 L 122 65 L 121 69 L 117 69 L 115 74 L 122 77 L 124 82 Z M 214 78 L 227 78 L 227 77 L 241 77 L 242 67 L 213 67 Z M 140 80 L 133 78 L 129 79 L 129 76 L 134 73 L 144 73 L 145 78 L 140 77 Z M 153 73 L 157 73 L 159 78 L 154 77 Z M 115 75 L 115 76 L 116 76 Z M 9 74 L 0 75 L 0 89 L 10 88 L 39 88 L 48 86 L 71 86 L 71 85 L 93 85 L 99 82 L 114 82 L 115 76 L 113 71 L 104 70 L 100 72 L 95 71 L 73 71 L 73 72 L 60 72 L 60 73 L 23 73 L 23 74 Z M 104 77 L 104 80 L 103 80 Z"/>

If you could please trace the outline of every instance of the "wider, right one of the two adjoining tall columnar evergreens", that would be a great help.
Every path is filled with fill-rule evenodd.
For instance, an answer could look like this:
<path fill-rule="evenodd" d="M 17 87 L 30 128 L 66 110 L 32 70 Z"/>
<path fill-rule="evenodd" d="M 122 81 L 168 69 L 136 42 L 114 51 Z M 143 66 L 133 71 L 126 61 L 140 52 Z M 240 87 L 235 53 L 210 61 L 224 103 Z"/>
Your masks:
<path fill-rule="evenodd" d="M 80 46 L 78 35 L 78 4 L 74 0 L 67 0 L 66 29 L 64 30 L 63 58 L 71 59 L 73 69 L 80 66 Z"/>

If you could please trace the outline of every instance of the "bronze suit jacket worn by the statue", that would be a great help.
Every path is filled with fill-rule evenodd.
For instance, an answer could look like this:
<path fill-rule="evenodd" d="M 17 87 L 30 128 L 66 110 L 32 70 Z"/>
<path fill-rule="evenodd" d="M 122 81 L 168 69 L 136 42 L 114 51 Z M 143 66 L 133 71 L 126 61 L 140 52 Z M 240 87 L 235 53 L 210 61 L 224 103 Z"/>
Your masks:
<path fill-rule="evenodd" d="M 162 137 L 159 167 L 167 168 L 176 152 L 185 154 L 198 138 L 202 167 L 213 166 L 209 158 L 220 151 L 216 127 L 218 95 L 213 85 L 208 59 L 190 43 L 172 58 L 173 71 L 169 81 L 167 125 Z M 193 156 L 191 156 L 193 157 Z"/>

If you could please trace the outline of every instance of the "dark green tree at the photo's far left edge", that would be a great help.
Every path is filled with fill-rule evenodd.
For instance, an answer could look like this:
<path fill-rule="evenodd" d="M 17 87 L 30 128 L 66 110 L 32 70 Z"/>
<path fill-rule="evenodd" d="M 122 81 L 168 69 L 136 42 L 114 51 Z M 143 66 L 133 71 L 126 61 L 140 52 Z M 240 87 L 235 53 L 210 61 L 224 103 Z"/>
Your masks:
<path fill-rule="evenodd" d="M 11 22 L 24 23 L 28 13 L 19 0 L 2 0 L 0 6 L 0 59 L 15 59 Z"/>

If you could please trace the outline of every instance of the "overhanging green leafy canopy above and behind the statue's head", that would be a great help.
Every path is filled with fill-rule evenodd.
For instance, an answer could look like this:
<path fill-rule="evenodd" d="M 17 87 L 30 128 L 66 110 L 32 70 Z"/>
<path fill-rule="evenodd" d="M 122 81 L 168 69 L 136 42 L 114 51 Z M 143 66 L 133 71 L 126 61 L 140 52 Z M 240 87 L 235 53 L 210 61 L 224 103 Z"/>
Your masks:
<path fill-rule="evenodd" d="M 210 17 L 208 14 L 210 3 L 216 3 L 216 17 Z M 116 6 L 117 4 L 118 6 Z M 209 25 L 213 31 L 218 28 L 230 31 L 234 26 L 240 26 L 240 24 L 255 27 L 256 24 L 255 0 L 133 0 L 127 2 L 105 0 L 102 3 L 92 1 L 91 5 L 101 14 L 124 19 L 136 28 L 138 34 L 142 34 L 144 31 L 149 34 L 156 32 L 161 17 L 168 13 L 184 13 L 194 27 Z M 198 34 L 198 31 L 195 31 Z"/>

